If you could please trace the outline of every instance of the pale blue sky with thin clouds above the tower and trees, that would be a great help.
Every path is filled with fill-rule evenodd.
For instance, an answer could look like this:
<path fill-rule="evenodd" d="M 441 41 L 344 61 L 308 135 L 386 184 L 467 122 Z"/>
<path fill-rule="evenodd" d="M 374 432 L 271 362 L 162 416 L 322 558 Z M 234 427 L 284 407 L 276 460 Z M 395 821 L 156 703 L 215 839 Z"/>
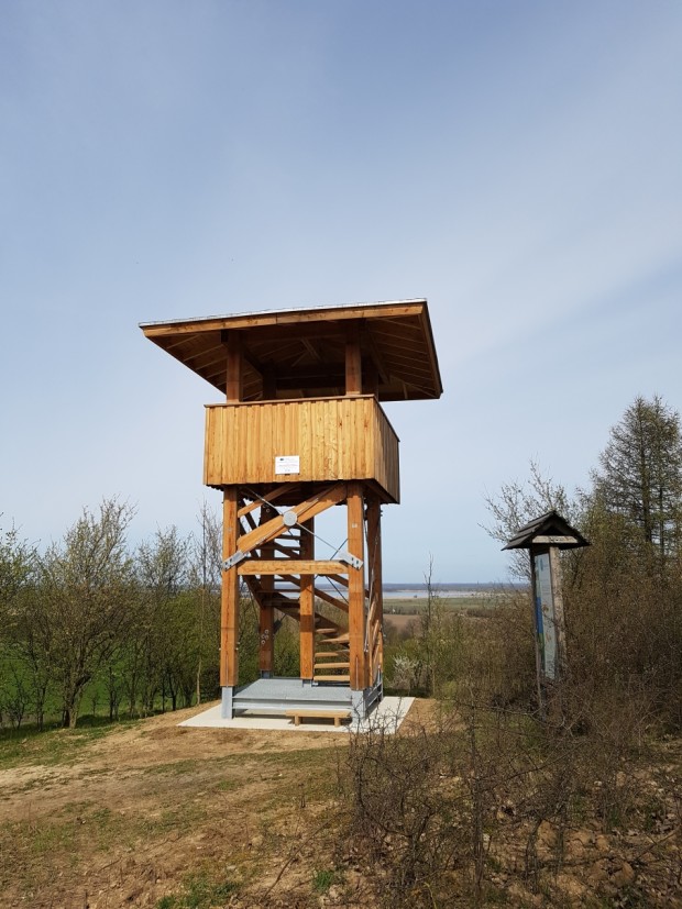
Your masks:
<path fill-rule="evenodd" d="M 386 579 L 504 578 L 486 492 L 682 408 L 681 46 L 676 0 L 7 0 L 0 525 L 218 507 L 218 392 L 139 322 L 427 297 Z"/>

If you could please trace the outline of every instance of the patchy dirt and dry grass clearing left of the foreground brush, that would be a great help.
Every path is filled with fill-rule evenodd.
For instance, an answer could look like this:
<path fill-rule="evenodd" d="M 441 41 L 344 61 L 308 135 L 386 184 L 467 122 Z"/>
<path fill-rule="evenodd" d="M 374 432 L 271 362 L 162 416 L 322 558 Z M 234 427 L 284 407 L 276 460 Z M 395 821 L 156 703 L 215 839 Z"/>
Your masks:
<path fill-rule="evenodd" d="M 0 761 L 0 906 L 208 906 L 209 880 L 221 906 L 238 888 L 233 905 L 319 905 L 348 738 L 178 727 L 196 712 L 19 742 Z"/>

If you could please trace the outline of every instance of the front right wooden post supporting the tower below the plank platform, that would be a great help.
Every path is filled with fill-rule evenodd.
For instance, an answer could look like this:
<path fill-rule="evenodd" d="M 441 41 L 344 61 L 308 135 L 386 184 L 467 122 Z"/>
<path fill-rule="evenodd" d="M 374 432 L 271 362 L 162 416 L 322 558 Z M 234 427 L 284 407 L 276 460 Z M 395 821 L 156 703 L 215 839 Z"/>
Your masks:
<path fill-rule="evenodd" d="M 363 488 L 353 480 L 348 485 L 348 548 L 364 563 Z M 349 650 L 351 688 L 366 688 L 365 668 L 365 577 L 362 568 L 349 568 Z"/>

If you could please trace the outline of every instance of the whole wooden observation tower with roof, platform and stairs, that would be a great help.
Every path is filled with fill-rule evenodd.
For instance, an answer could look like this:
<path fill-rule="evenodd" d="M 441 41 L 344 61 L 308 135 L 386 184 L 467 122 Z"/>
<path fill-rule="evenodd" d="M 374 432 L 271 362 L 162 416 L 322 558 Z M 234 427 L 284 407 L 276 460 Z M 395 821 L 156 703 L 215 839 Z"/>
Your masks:
<path fill-rule="evenodd" d="M 381 508 L 399 500 L 398 437 L 381 401 L 439 398 L 426 300 L 153 322 L 146 337 L 224 396 L 206 409 L 204 483 L 223 494 L 223 716 L 382 696 Z M 345 507 L 320 557 L 316 518 Z M 239 687 L 243 583 L 258 607 L 261 680 Z M 273 678 L 283 617 L 298 679 Z"/>

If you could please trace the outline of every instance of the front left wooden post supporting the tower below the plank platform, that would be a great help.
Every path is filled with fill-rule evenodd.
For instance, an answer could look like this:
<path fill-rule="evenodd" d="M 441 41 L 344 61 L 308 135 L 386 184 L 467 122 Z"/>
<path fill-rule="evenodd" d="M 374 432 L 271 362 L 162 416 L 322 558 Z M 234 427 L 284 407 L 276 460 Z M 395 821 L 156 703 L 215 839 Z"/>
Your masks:
<path fill-rule="evenodd" d="M 239 523 L 237 487 L 228 486 L 222 501 L 222 557 L 237 550 Z M 222 573 L 220 602 L 220 685 L 235 686 L 239 679 L 237 645 L 239 641 L 239 575 L 237 566 Z"/>

